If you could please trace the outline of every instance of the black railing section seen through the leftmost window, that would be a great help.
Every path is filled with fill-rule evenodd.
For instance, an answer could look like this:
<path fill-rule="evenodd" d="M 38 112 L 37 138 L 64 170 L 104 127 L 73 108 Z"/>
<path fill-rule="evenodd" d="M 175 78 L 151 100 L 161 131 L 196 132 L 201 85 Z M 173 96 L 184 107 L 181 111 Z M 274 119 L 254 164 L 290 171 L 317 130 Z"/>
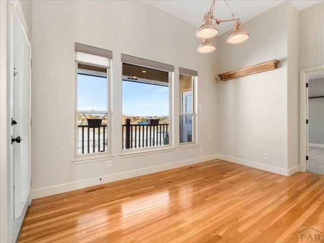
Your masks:
<path fill-rule="evenodd" d="M 78 152 L 95 153 L 107 149 L 107 125 L 78 125 Z"/>

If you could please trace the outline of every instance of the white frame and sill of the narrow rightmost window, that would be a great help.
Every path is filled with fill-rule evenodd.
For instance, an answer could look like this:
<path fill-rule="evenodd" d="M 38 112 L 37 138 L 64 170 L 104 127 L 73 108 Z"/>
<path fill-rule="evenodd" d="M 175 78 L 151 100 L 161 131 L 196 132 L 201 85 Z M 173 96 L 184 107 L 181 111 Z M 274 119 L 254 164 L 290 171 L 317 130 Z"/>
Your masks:
<path fill-rule="evenodd" d="M 197 125 L 197 76 L 187 75 L 187 74 L 181 74 L 179 73 L 179 82 L 180 82 L 180 75 L 186 75 L 191 76 L 191 87 L 192 87 L 192 113 L 182 113 L 182 101 L 181 101 L 181 93 L 179 92 L 179 101 L 180 101 L 180 112 L 179 112 L 179 137 L 180 137 L 180 117 L 182 115 L 192 115 L 192 142 L 185 142 L 181 143 L 179 139 L 179 148 L 193 148 L 198 146 L 198 139 L 197 139 L 197 131 L 198 131 L 198 125 Z M 180 90 L 179 90 L 180 91 Z"/>

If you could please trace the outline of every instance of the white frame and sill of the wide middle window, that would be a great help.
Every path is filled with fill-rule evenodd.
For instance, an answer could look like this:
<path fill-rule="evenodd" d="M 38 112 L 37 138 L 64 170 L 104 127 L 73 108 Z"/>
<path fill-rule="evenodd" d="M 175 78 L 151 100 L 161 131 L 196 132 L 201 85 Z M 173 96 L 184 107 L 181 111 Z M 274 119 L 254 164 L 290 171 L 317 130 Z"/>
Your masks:
<path fill-rule="evenodd" d="M 123 62 L 121 63 L 123 65 Z M 167 70 L 165 70 L 167 71 Z M 145 148 L 129 148 L 129 149 L 123 149 L 123 146 L 121 147 L 120 151 L 120 157 L 131 157 L 136 155 L 143 155 L 143 154 L 151 154 L 151 153 L 157 153 L 157 152 L 163 152 L 163 151 L 172 151 L 175 149 L 174 147 L 174 120 L 173 120 L 173 113 L 174 113 L 174 72 L 169 72 L 169 144 L 168 145 L 159 145 L 159 146 L 151 146 L 151 147 L 145 147 Z M 121 100 L 123 100 L 123 89 L 121 89 Z M 121 114 L 123 114 L 123 101 L 120 102 L 120 110 Z M 123 124 L 121 124 L 121 131 L 123 131 Z M 123 137 L 121 137 L 123 140 Z"/>

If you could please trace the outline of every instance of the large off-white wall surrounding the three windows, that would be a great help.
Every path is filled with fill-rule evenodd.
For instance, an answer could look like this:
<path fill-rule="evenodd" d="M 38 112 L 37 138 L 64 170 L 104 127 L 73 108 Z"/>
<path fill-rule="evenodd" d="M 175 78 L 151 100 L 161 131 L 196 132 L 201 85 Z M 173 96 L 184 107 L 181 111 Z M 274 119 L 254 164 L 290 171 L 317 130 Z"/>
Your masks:
<path fill-rule="evenodd" d="M 196 27 L 139 1 L 32 2 L 32 188 L 45 196 L 215 157 L 217 55 L 196 52 Z M 74 42 L 113 51 L 112 168 L 74 165 Z M 120 54 L 175 65 L 174 151 L 121 158 Z M 178 67 L 198 71 L 199 148 L 178 149 Z M 279 70 L 280 72 L 280 70 Z M 177 161 L 182 163 L 174 164 Z M 173 164 L 169 164 L 173 163 Z M 149 169 L 144 169 L 149 168 Z M 144 169 L 144 170 L 143 170 Z M 73 183 L 76 182 L 76 183 Z"/>

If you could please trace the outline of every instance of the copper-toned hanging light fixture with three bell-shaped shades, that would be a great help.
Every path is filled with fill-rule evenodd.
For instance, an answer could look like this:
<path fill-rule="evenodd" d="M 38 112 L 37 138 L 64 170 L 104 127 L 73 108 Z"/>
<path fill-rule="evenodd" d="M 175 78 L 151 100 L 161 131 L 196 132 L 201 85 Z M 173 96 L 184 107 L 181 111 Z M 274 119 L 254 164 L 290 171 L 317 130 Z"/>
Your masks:
<path fill-rule="evenodd" d="M 234 18 L 234 14 L 229 8 L 226 0 L 224 0 L 224 2 L 229 12 L 231 13 L 232 18 L 227 20 L 220 20 L 214 18 L 213 11 L 216 1 L 219 0 L 213 0 L 211 9 L 204 15 L 203 25 L 201 25 L 196 32 L 198 38 L 204 39 L 203 43 L 201 43 L 197 49 L 197 51 L 201 53 L 208 53 L 216 50 L 215 46 L 210 41 L 210 39 L 218 34 L 218 29 L 216 27 L 222 22 L 236 21 L 233 28 L 233 32 L 227 39 L 227 43 L 239 44 L 245 42 L 250 37 L 248 32 L 243 29 L 239 18 Z"/>

